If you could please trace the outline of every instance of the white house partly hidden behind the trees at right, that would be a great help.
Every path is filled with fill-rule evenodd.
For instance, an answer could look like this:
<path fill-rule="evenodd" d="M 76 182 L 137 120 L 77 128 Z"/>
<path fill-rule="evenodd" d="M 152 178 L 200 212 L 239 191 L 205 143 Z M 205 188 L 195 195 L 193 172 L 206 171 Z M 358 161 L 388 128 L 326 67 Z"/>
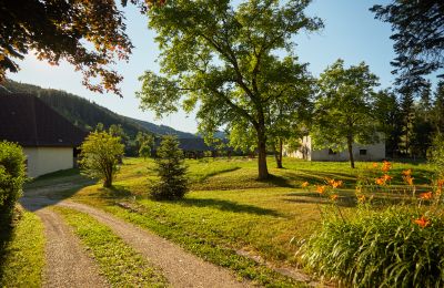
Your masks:
<path fill-rule="evenodd" d="M 304 136 L 301 142 L 301 146 L 295 152 L 284 151 L 284 156 L 295 157 L 307 161 L 349 161 L 349 151 L 342 151 L 339 153 L 333 152 L 329 148 L 315 150 L 312 145 L 312 138 Z M 385 158 L 385 143 L 371 145 L 353 144 L 353 157 L 355 161 L 381 161 Z"/>

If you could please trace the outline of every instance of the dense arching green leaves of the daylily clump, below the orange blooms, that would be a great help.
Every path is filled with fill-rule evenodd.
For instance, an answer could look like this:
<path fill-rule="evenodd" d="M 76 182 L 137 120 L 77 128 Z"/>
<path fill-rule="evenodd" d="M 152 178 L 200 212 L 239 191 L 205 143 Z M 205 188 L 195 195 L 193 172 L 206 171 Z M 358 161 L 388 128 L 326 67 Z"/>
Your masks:
<path fill-rule="evenodd" d="M 356 287 L 443 287 L 444 222 L 422 227 L 407 207 L 361 209 L 353 219 L 325 219 L 302 247 L 302 259 L 321 276 Z"/>

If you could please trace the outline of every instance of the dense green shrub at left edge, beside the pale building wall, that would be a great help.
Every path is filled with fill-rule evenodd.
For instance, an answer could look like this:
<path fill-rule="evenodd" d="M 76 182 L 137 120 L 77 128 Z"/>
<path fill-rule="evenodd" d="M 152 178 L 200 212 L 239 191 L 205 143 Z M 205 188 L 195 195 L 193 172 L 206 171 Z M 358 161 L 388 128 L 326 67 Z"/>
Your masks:
<path fill-rule="evenodd" d="M 13 143 L 0 142 L 0 222 L 10 219 L 24 181 L 22 148 Z"/>

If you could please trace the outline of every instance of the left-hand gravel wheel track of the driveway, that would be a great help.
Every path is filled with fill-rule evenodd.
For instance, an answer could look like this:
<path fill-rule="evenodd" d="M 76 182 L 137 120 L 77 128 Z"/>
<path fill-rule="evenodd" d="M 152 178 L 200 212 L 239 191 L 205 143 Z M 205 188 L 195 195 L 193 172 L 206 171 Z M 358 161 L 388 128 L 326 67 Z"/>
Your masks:
<path fill-rule="evenodd" d="M 107 287 L 95 263 L 85 255 L 70 227 L 48 208 L 37 209 L 44 202 L 22 200 L 22 205 L 41 218 L 47 237 L 43 287 Z"/>

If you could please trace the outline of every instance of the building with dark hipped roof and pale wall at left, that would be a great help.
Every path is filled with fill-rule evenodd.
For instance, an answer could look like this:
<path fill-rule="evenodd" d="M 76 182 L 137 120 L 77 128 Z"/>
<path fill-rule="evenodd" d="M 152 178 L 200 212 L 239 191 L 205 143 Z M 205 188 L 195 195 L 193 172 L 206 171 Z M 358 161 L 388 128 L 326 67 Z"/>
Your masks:
<path fill-rule="evenodd" d="M 23 147 L 30 177 L 72 168 L 85 136 L 33 95 L 0 94 L 0 141 Z"/>

